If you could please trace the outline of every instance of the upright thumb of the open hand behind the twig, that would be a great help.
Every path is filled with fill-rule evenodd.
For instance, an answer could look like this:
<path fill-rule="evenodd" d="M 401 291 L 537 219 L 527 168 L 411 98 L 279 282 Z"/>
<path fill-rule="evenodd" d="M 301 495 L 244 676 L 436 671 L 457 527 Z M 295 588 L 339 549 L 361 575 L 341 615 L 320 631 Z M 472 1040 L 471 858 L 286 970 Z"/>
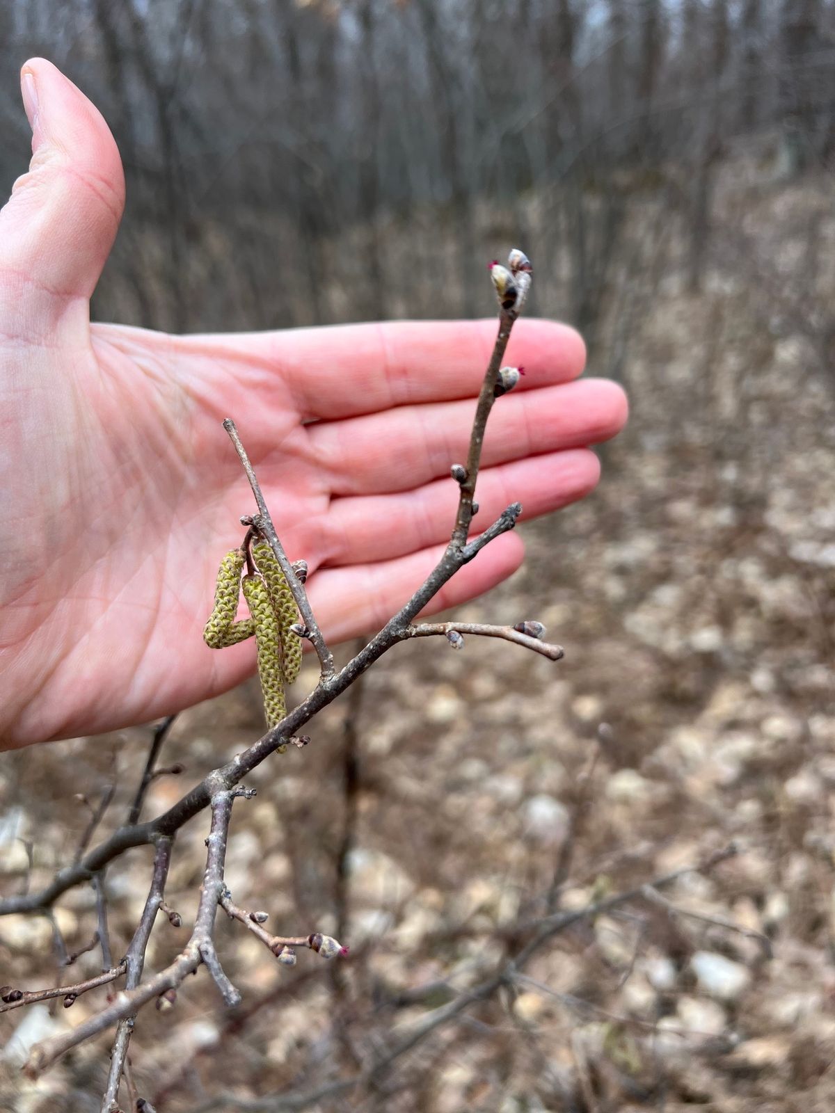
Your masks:
<path fill-rule="evenodd" d="M 101 114 L 60 70 L 32 58 L 20 83 L 32 159 L 0 211 L 0 283 L 27 315 L 38 303 L 63 313 L 96 287 L 125 206 L 125 177 Z"/>

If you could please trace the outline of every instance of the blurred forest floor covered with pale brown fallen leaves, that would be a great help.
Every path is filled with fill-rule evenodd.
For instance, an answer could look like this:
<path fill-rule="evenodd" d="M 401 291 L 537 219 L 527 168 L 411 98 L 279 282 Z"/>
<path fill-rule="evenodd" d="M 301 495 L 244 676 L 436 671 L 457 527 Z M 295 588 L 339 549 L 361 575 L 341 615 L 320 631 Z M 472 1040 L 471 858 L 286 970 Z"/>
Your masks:
<path fill-rule="evenodd" d="M 352 956 L 325 966 L 304 952 L 287 971 L 224 922 L 237 1013 L 199 976 L 173 1009 L 147 1009 L 137 1025 L 132 1073 L 158 1111 L 832 1109 L 835 377 L 815 314 L 835 292 L 835 217 L 825 183 L 737 184 L 717 205 L 756 250 L 709 267 L 692 294 L 676 244 L 664 247 L 619 356 L 631 421 L 602 451 L 599 490 L 522 526 L 523 569 L 459 611 L 539 619 L 564 660 L 477 639 L 462 652 L 397 648 L 363 679 L 358 707 L 337 702 L 311 723 L 307 749 L 257 770 L 257 798 L 233 819 L 234 897 L 269 912 L 276 932 L 334 930 L 353 721 L 360 782 L 342 908 Z M 812 249 L 811 214 L 821 262 L 798 302 L 793 267 Z M 729 234 L 721 250 L 734 243 Z M 783 301 L 766 297 L 773 280 L 789 292 Z M 622 345 L 622 312 L 603 322 L 591 373 Z M 313 682 L 306 666 L 298 692 Z M 253 684 L 184 713 L 164 762 L 186 771 L 155 782 L 146 814 L 247 745 L 259 722 Z M 22 840 L 33 844 L 32 885 L 67 861 L 87 819 L 73 794 L 95 800 L 115 780 L 101 834 L 124 817 L 148 737 L 3 758 L 7 892 L 28 868 Z M 205 834 L 204 816 L 175 849 L 168 899 L 186 925 Z M 651 885 L 731 843 L 736 853 L 705 873 L 580 917 L 374 1085 L 301 1100 L 354 1077 L 507 964 L 536 930 L 525 924 Z M 109 871 L 115 953 L 137 922 L 149 863 L 134 850 Z M 95 928 L 91 899 L 81 888 L 60 902 L 70 947 Z M 149 968 L 186 930 L 159 917 Z M 50 938 L 43 918 L 0 919 L 0 981 L 53 982 Z M 97 962 L 85 955 L 65 979 Z M 0 1109 L 98 1110 L 106 1040 L 38 1083 L 21 1082 L 14 1054 L 78 1023 L 104 994 L 0 1017 L 3 1041 L 17 1028 Z M 299 1101 L 284 1106 L 282 1094 Z M 256 1097 L 265 1102 L 244 1101 Z"/>

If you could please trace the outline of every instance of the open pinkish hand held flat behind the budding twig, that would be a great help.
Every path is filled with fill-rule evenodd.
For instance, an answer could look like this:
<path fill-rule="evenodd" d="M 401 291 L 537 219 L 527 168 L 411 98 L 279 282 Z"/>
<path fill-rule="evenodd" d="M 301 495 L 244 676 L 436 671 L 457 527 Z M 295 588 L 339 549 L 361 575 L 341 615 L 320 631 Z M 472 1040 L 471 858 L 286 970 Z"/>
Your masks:
<path fill-rule="evenodd" d="M 0 211 L 2 748 L 148 722 L 254 670 L 252 643 L 212 651 L 200 636 L 254 510 L 226 416 L 288 555 L 310 564 L 325 636 L 381 626 L 449 539 L 449 469 L 495 333 L 494 319 L 216 336 L 91 325 L 124 207 L 119 154 L 50 62 L 27 62 L 21 83 L 33 155 Z M 515 500 L 531 519 L 588 494 L 589 446 L 627 414 L 619 387 L 578 381 L 583 344 L 563 325 L 520 321 L 508 362 L 525 376 L 490 420 L 479 524 Z M 518 533 L 499 538 L 432 609 L 521 559 Z"/>

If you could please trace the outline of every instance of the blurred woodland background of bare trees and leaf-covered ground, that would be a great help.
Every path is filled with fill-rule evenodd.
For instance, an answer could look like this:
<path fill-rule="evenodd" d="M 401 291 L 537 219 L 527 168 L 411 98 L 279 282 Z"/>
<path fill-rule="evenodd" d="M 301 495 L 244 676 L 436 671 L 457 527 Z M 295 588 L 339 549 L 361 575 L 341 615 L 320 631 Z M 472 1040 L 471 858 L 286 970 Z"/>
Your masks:
<path fill-rule="evenodd" d="M 482 315 L 485 262 L 520 246 L 531 312 L 579 327 L 632 406 L 599 491 L 523 526 L 523 569 L 459 612 L 539 619 L 566 660 L 401 647 L 236 811 L 238 903 L 276 932 L 338 933 L 352 959 L 279 969 L 222 925 L 244 1004 L 225 1014 L 198 978 L 143 1014 L 137 1092 L 176 1113 L 831 1109 L 835 3 L 4 0 L 0 42 L 7 191 L 28 158 L 30 55 L 119 142 L 128 206 L 99 319 Z M 184 713 L 164 761 L 185 772 L 155 781 L 147 814 L 259 731 L 252 686 Z M 108 804 L 96 837 L 124 820 L 148 739 L 3 757 L 6 892 L 72 857 L 78 796 Z M 175 851 L 187 924 L 204 827 Z M 374 1085 L 305 1096 L 492 973 L 527 938 L 514 925 L 731 839 L 736 857 L 666 889 L 671 905 L 577 924 Z M 139 850 L 108 874 L 115 953 L 148 874 Z M 70 949 L 88 940 L 91 893 L 58 923 Z M 178 938 L 157 925 L 151 967 Z M 55 983 L 51 947 L 46 919 L 0 919 L 1 981 Z M 0 1106 L 98 1110 L 106 1042 L 37 1085 L 16 1066 L 96 1005 L 0 1018 L 8 1038 L 35 1017 Z"/>

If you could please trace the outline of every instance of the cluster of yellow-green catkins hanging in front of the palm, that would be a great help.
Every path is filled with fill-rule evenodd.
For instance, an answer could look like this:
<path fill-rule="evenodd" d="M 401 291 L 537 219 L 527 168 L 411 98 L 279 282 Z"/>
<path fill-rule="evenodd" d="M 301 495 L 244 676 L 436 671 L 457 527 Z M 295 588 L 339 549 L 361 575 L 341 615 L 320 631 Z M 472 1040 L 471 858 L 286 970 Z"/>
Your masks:
<path fill-rule="evenodd" d="M 291 633 L 297 621 L 289 584 L 266 541 L 252 546 L 257 572 L 240 578 L 246 554 L 233 549 L 220 561 L 215 587 L 215 607 L 203 631 L 209 649 L 234 646 L 255 634 L 258 678 L 267 726 L 287 713 L 284 684 L 292 683 L 302 666 L 302 642 Z M 243 588 L 250 618 L 235 621 Z"/>

